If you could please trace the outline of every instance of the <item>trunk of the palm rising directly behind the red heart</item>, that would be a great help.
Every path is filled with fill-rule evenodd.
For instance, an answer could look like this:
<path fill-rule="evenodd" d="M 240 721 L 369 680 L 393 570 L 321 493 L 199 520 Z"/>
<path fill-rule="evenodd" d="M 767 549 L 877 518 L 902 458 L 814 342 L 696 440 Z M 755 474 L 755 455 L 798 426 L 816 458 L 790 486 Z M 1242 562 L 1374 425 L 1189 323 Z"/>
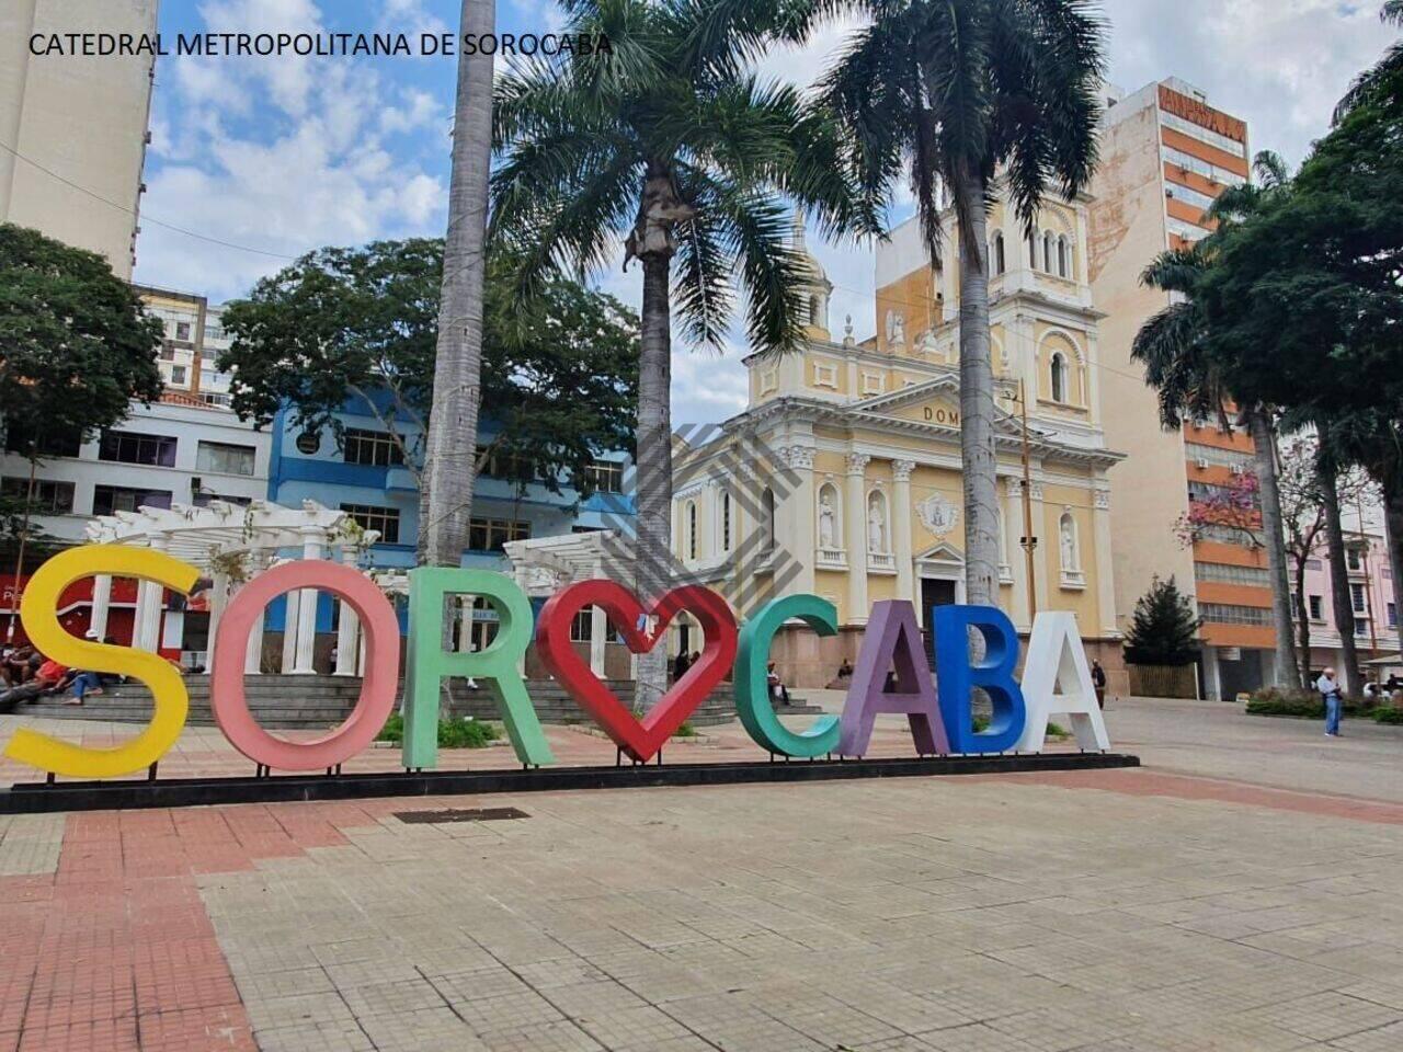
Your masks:
<path fill-rule="evenodd" d="M 666 244 L 666 238 L 664 238 Z M 638 358 L 638 438 L 634 461 L 638 501 L 636 589 L 648 602 L 672 582 L 672 252 L 643 254 L 643 330 Z M 634 707 L 647 713 L 668 689 L 668 651 L 659 644 L 638 656 Z"/>

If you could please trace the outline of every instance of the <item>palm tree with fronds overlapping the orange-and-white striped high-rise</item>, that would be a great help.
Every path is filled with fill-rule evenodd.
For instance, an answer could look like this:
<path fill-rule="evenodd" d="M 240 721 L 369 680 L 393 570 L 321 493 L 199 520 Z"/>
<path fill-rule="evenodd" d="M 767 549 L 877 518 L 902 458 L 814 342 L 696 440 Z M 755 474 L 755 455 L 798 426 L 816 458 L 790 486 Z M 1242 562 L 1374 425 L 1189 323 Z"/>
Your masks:
<path fill-rule="evenodd" d="M 1242 222 L 1260 206 L 1263 195 L 1287 191 L 1285 164 L 1264 150 L 1254 160 L 1258 184 L 1228 189 L 1208 209 L 1219 227 Z M 1180 299 L 1146 321 L 1131 346 L 1131 358 L 1145 366 L 1145 383 L 1159 393 L 1160 424 L 1177 431 L 1188 419 L 1218 419 L 1228 429 L 1226 407 L 1236 403 L 1232 379 L 1209 346 L 1211 331 L 1200 303 L 1194 300 L 1198 282 L 1211 269 L 1215 254 L 1212 236 L 1190 245 L 1160 254 L 1141 276 L 1141 282 Z M 1275 631 L 1275 683 L 1295 687 L 1301 683 L 1296 651 L 1292 644 L 1291 588 L 1288 585 L 1287 547 L 1282 532 L 1281 490 L 1277 480 L 1277 428 L 1270 407 L 1240 405 L 1239 421 L 1247 426 L 1253 442 L 1257 487 L 1261 499 L 1261 530 L 1267 548 L 1267 572 L 1271 576 L 1271 620 Z"/>

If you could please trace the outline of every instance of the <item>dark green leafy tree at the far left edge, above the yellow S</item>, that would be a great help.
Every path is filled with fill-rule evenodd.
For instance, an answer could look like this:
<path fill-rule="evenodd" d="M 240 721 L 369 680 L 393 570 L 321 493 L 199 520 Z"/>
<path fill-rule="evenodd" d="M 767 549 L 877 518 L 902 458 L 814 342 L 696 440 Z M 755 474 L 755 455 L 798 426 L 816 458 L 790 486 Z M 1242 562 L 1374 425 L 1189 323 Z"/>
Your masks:
<path fill-rule="evenodd" d="M 0 224 L 0 419 L 7 446 L 29 461 L 17 579 L 38 463 L 55 443 L 80 442 L 123 419 L 133 398 L 160 397 L 160 321 L 102 257 Z"/>

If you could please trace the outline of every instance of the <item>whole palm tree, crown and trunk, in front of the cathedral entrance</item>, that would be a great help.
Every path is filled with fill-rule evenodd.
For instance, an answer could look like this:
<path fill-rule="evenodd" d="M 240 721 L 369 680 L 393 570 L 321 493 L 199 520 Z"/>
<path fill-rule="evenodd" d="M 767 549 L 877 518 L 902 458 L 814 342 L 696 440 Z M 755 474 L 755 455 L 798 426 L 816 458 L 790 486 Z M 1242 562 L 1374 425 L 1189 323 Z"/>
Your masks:
<path fill-rule="evenodd" d="M 810 0 L 812 10 L 835 4 Z M 863 191 L 906 175 L 926 247 L 941 250 L 940 194 L 960 245 L 960 417 L 965 593 L 998 602 L 993 366 L 985 234 L 995 181 L 1028 231 L 1049 184 L 1075 196 L 1096 164 L 1103 24 L 1086 0 L 849 0 L 859 29 L 821 84 Z"/>

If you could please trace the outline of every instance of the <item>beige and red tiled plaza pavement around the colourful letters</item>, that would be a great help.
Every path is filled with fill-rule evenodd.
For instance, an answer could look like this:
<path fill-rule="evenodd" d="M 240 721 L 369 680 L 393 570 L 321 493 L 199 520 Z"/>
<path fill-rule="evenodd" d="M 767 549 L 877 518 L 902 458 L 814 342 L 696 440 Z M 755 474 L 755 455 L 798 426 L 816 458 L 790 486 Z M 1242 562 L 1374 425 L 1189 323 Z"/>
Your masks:
<path fill-rule="evenodd" d="M 1403 728 L 1110 727 L 1145 769 L 0 816 L 0 1052 L 1403 1048 Z"/>

